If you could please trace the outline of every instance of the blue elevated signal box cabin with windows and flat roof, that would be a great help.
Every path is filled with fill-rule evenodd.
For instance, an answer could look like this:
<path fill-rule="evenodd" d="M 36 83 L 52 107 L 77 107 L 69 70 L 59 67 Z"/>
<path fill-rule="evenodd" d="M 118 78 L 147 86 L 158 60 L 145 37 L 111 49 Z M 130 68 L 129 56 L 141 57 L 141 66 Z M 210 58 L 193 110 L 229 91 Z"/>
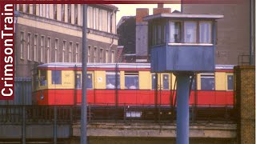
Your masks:
<path fill-rule="evenodd" d="M 149 23 L 152 72 L 214 71 L 218 18 L 213 14 L 154 14 Z"/>

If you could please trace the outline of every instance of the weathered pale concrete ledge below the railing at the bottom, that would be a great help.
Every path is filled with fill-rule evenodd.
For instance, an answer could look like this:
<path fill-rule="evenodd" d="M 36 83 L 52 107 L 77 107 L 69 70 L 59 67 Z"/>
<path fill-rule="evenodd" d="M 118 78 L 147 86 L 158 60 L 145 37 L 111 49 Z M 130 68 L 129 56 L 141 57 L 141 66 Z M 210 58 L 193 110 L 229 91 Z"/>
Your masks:
<path fill-rule="evenodd" d="M 72 144 L 80 142 L 80 125 L 73 125 Z M 157 123 L 90 123 L 87 126 L 90 144 L 165 144 L 175 143 L 176 126 Z M 233 144 L 235 124 L 198 123 L 190 126 L 190 143 Z"/>

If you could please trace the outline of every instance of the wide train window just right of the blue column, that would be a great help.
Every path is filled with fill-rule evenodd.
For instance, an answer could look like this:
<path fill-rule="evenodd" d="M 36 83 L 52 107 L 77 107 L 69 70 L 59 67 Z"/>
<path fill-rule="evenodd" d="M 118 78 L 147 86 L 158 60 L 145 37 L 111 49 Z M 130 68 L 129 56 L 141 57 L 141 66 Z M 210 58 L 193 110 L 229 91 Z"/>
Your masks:
<path fill-rule="evenodd" d="M 201 90 L 215 90 L 214 74 L 201 74 Z"/>

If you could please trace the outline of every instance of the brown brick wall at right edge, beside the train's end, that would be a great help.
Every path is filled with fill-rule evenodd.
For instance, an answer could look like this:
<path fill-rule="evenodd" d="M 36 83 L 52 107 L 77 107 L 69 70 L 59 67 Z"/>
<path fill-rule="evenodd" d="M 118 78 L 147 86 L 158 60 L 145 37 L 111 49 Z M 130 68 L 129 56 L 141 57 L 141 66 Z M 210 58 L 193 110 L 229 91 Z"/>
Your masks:
<path fill-rule="evenodd" d="M 235 67 L 238 143 L 255 142 L 255 67 Z"/>

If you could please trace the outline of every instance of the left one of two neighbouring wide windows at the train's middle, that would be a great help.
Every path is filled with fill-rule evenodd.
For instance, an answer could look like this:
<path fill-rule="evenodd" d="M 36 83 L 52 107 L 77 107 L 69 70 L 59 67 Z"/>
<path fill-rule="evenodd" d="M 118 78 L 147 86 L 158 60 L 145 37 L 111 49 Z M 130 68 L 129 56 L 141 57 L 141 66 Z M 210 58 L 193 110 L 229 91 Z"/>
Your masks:
<path fill-rule="evenodd" d="M 114 89 L 116 86 L 118 89 L 120 88 L 120 74 L 116 73 L 114 71 L 107 71 L 106 72 L 106 89 Z M 116 78 L 118 81 L 116 81 Z"/>

